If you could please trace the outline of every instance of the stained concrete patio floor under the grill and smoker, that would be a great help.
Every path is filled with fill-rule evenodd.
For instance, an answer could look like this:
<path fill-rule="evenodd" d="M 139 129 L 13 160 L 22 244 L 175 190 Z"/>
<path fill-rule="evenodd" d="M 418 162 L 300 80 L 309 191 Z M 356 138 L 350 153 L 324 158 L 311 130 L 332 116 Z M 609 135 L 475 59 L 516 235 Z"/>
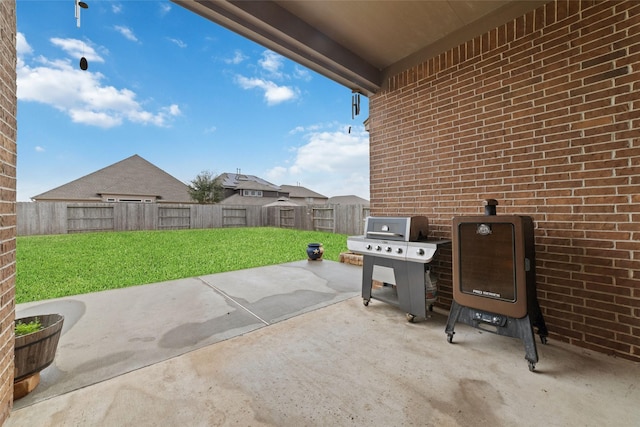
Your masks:
<path fill-rule="evenodd" d="M 21 304 L 65 316 L 7 426 L 639 426 L 640 364 L 409 323 L 361 267 L 294 262 Z"/>

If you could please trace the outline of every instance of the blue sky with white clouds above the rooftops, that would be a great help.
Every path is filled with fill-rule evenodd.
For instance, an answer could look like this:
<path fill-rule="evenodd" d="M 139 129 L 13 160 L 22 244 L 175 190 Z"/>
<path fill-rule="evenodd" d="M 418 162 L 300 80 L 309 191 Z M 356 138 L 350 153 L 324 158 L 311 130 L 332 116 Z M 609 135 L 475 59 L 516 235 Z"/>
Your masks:
<path fill-rule="evenodd" d="M 17 0 L 18 201 L 134 154 L 369 198 L 365 97 L 352 119 L 349 88 L 169 1 L 87 3 Z"/>

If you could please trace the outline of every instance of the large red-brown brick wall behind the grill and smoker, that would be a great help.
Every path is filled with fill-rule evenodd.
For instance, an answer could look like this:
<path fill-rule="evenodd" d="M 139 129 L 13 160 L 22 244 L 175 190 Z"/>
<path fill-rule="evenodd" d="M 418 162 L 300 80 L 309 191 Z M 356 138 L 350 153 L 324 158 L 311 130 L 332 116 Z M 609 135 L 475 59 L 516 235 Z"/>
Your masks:
<path fill-rule="evenodd" d="M 640 2 L 551 2 L 371 98 L 372 214 L 532 216 L 550 337 L 640 361 L 638 93 Z"/>

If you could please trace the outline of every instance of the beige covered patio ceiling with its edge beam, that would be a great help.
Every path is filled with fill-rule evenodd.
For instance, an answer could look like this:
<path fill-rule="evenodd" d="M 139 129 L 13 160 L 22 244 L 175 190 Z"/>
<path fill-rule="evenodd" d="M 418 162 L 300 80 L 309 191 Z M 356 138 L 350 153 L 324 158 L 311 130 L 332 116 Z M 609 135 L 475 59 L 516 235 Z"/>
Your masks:
<path fill-rule="evenodd" d="M 173 0 L 365 95 L 402 71 L 524 15 L 540 0 Z"/>

